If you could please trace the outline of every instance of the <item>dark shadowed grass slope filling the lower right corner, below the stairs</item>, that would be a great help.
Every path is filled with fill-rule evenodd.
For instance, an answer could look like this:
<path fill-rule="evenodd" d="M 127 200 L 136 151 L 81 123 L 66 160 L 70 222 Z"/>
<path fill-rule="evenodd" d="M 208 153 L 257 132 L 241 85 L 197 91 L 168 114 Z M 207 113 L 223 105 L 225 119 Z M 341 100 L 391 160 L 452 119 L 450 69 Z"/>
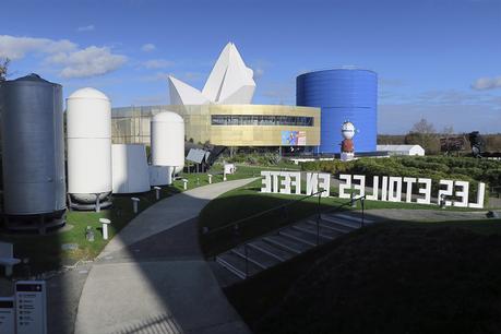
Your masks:
<path fill-rule="evenodd" d="M 382 223 L 225 293 L 254 333 L 500 333 L 501 219 Z"/>

